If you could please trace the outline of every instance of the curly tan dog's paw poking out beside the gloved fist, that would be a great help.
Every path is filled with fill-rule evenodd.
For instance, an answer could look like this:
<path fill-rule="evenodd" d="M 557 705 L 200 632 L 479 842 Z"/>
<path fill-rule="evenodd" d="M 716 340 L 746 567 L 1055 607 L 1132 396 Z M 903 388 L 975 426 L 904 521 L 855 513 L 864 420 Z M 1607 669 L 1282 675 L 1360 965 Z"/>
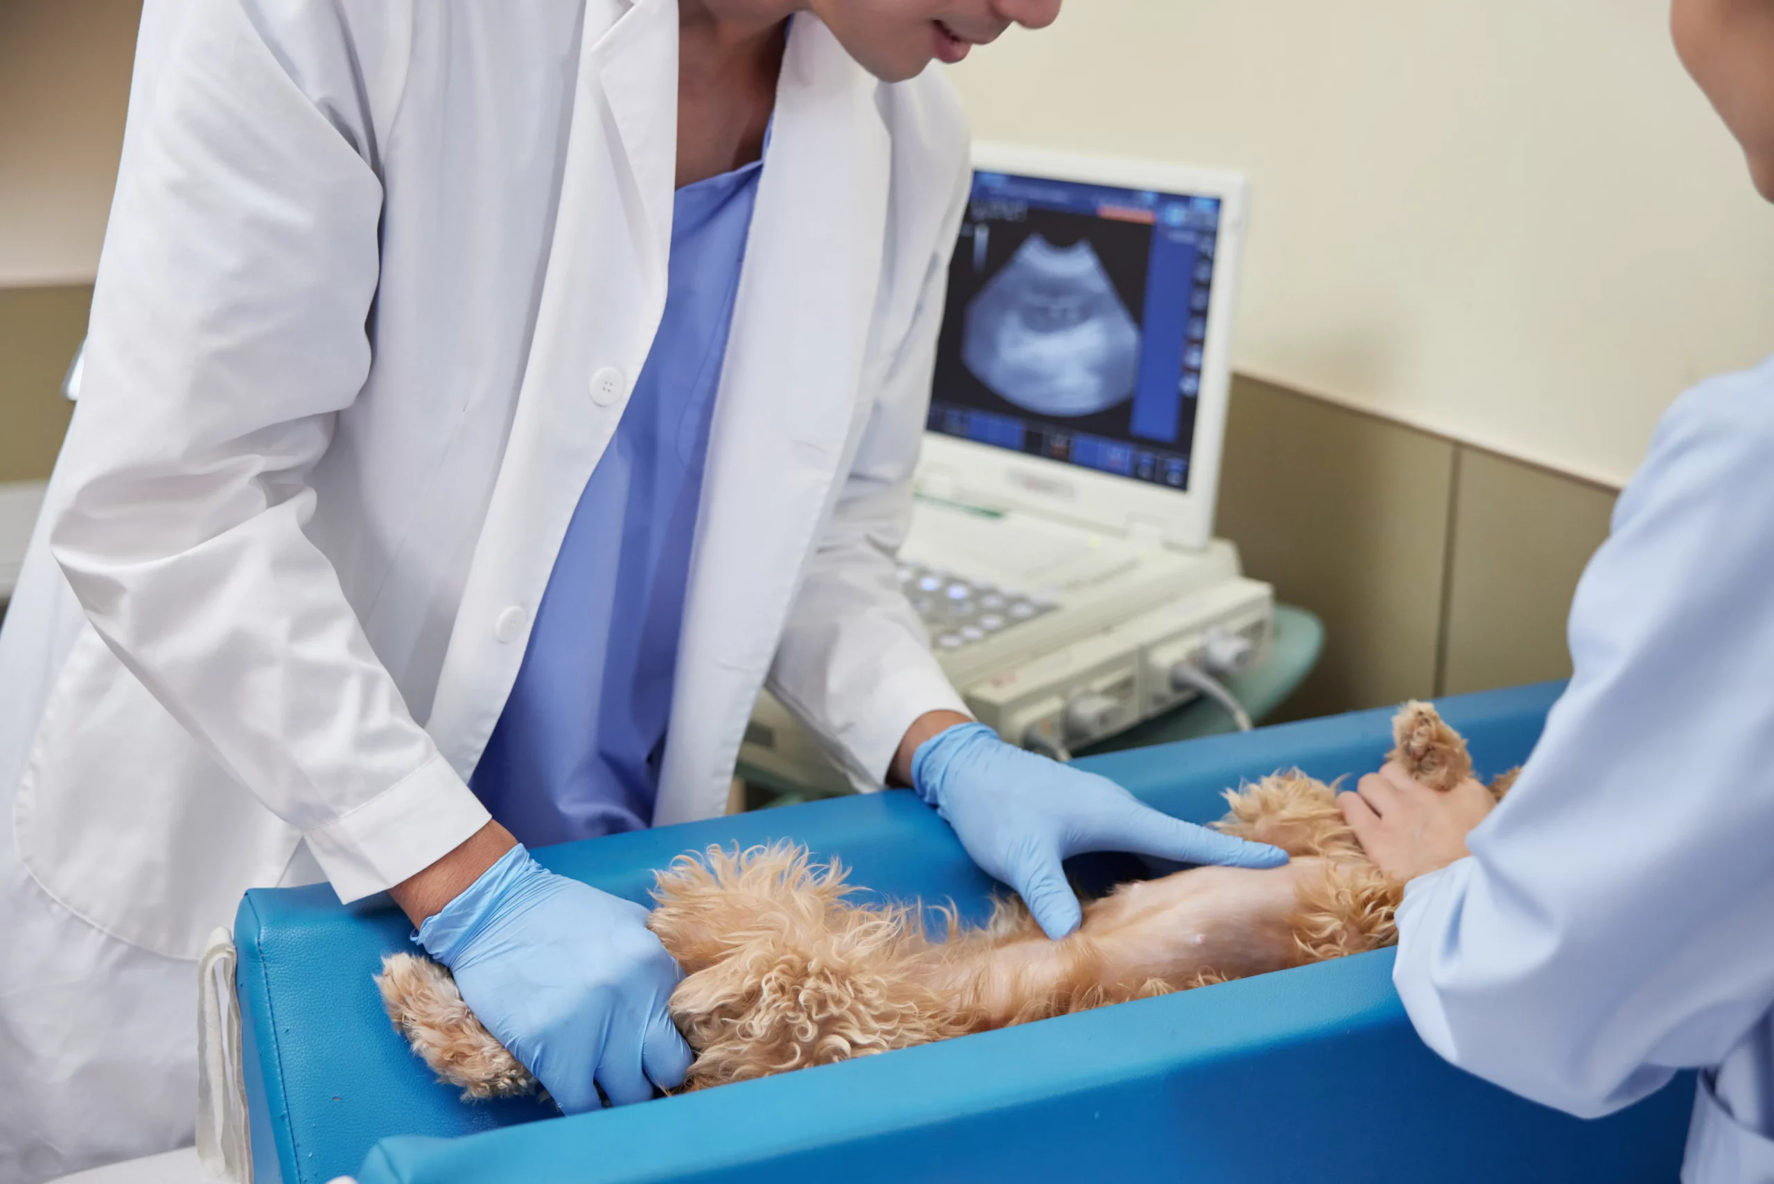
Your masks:
<path fill-rule="evenodd" d="M 390 953 L 374 976 L 381 1005 L 438 1081 L 463 1101 L 538 1092 L 536 1077 L 474 1017 L 456 980 L 431 959 Z"/>

